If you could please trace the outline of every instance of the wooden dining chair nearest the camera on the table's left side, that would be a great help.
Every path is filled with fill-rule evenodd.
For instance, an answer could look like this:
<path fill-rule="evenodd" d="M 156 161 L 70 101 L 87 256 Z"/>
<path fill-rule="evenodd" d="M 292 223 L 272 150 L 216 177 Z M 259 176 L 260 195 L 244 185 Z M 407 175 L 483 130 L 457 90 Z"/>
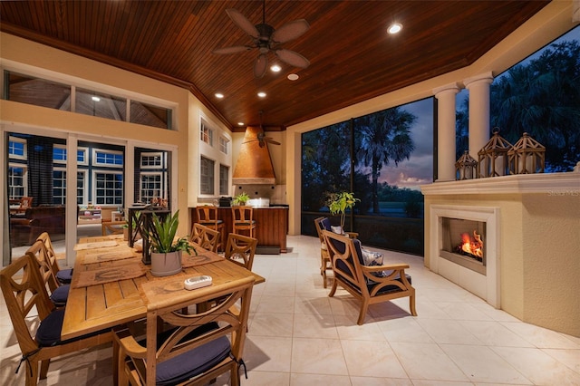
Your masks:
<path fill-rule="evenodd" d="M 51 359 L 111 342 L 111 330 L 61 340 L 64 309 L 54 309 L 33 256 L 7 265 L 0 272 L 0 287 L 22 352 L 20 363 L 25 362 L 27 386 L 36 385 L 39 377 L 46 379 Z"/>

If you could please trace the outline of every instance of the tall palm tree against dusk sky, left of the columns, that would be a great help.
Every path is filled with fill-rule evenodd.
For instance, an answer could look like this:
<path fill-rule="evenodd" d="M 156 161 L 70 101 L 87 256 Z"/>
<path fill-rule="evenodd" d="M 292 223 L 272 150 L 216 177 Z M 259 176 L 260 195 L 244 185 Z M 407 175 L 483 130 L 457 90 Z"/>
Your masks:
<path fill-rule="evenodd" d="M 360 134 L 357 158 L 365 167 L 371 167 L 374 213 L 379 213 L 378 182 L 382 166 L 391 160 L 398 166 L 401 160 L 409 159 L 415 149 L 410 131 L 416 119 L 410 112 L 393 107 L 355 120 Z"/>

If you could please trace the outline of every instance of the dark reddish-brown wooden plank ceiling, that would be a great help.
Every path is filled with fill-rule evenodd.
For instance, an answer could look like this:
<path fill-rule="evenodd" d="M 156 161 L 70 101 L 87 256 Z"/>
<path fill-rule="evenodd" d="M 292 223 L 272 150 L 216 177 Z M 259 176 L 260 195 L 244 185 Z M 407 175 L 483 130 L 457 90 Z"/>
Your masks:
<path fill-rule="evenodd" d="M 250 38 L 226 14 L 262 22 L 262 1 L 1 1 L 8 34 L 188 88 L 232 130 L 284 127 L 469 65 L 546 1 L 266 1 L 266 24 L 305 19 L 283 48 L 310 66 L 253 75 L 257 50 L 215 54 Z M 391 22 L 400 34 L 386 34 Z M 286 79 L 296 73 L 299 79 Z M 256 96 L 258 91 L 266 98 Z M 214 95 L 221 92 L 225 98 Z"/>

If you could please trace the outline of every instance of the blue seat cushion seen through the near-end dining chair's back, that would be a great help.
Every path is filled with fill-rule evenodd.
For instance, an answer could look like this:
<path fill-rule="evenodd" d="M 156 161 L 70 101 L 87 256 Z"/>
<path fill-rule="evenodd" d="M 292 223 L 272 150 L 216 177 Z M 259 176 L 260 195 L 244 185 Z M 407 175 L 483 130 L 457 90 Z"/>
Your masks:
<path fill-rule="evenodd" d="M 184 338 L 184 340 L 192 339 L 202 333 L 218 328 L 218 323 L 212 322 L 198 327 Z M 169 338 L 169 330 L 160 333 L 157 337 L 157 346 L 165 342 Z M 147 341 L 140 342 L 141 345 L 146 346 Z M 169 361 L 160 362 L 157 365 L 155 383 L 158 385 L 173 385 L 182 381 L 187 381 L 190 378 L 197 376 L 203 372 L 207 372 L 219 362 L 222 362 L 229 356 L 231 346 L 226 336 L 222 336 L 214 341 L 199 346 L 197 349 L 189 352 L 184 352 Z"/>

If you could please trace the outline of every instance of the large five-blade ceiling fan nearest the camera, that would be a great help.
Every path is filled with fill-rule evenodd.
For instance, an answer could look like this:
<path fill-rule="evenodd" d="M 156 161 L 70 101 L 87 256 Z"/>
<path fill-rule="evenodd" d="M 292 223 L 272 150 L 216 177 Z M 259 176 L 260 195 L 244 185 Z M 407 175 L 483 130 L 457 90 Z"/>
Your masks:
<path fill-rule="evenodd" d="M 270 51 L 274 52 L 282 62 L 292 66 L 306 68 L 310 65 L 308 59 L 304 58 L 300 53 L 280 48 L 280 44 L 302 36 L 310 28 L 310 24 L 304 19 L 286 23 L 275 30 L 272 25 L 266 24 L 266 0 L 263 3 L 261 24 L 252 24 L 247 20 L 246 16 L 234 8 L 227 9 L 226 13 L 234 24 L 252 38 L 252 43 L 249 45 L 216 48 L 213 53 L 240 53 L 257 48 L 258 55 L 256 63 L 254 63 L 254 76 L 256 78 L 262 78 L 266 73 L 267 54 Z"/>

